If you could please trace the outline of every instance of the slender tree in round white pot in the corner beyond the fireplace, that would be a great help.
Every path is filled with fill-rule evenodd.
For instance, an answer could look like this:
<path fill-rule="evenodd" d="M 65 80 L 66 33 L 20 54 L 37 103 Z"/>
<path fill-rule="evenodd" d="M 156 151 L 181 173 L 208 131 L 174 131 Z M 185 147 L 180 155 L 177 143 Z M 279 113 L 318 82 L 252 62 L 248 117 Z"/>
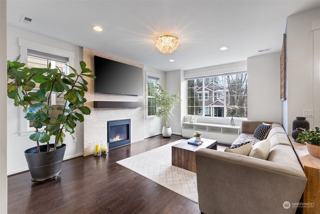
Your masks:
<path fill-rule="evenodd" d="M 168 127 L 168 119 L 172 116 L 174 106 L 181 101 L 178 93 L 169 95 L 169 91 L 163 89 L 159 84 L 154 87 L 154 98 L 157 111 L 155 116 L 164 117 L 165 126 L 162 127 L 163 137 L 170 137 L 172 134 L 171 127 Z"/>

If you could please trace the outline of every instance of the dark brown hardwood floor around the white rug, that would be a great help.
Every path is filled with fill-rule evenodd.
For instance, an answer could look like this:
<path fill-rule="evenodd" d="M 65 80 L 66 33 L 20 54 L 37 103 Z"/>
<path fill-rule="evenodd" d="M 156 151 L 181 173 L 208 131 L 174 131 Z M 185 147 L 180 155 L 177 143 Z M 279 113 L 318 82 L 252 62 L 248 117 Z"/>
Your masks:
<path fill-rule="evenodd" d="M 197 203 L 115 163 L 181 138 L 158 135 L 66 160 L 57 180 L 45 183 L 28 171 L 9 176 L 8 213 L 200 213 Z"/>

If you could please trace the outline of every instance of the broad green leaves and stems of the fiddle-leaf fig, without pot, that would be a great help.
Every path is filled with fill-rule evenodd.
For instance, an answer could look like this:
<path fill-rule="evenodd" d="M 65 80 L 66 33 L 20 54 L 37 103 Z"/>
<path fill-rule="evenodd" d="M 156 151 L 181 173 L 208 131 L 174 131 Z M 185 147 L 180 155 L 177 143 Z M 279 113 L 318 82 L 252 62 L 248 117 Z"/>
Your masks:
<path fill-rule="evenodd" d="M 80 72 L 68 66 L 68 75 L 58 68 L 50 69 L 50 64 L 48 68 L 28 68 L 24 65 L 7 61 L 7 96 L 14 100 L 14 106 L 22 106 L 24 118 L 33 122 L 35 131 L 29 139 L 36 142 L 37 152 L 40 152 L 40 143 L 47 144 L 47 151 L 55 150 L 62 144 L 64 132 L 74 133 L 76 122 L 84 121 L 82 114 L 90 114 L 90 109 L 83 106 L 88 84 L 84 77 L 95 76 L 83 61 L 80 62 Z M 51 105 L 54 94 L 64 98 L 64 105 Z M 57 116 L 53 116 L 52 111 Z M 54 147 L 50 148 L 52 135 Z"/>

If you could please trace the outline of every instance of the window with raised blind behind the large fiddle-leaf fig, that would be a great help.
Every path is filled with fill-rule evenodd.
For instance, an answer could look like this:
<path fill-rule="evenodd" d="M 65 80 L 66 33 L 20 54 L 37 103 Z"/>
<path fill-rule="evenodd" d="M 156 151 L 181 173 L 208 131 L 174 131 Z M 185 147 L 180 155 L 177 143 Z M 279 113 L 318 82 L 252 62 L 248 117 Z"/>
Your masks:
<path fill-rule="evenodd" d="M 47 68 L 50 64 L 50 68 L 58 68 L 63 74 L 67 72 L 68 58 L 59 57 L 51 54 L 46 54 L 38 51 L 27 50 L 27 63 L 26 66 L 29 68 Z M 63 96 L 56 96 L 52 93 L 51 103 L 49 105 L 64 105 Z M 54 116 L 54 111 L 49 112 L 49 115 Z M 33 127 L 33 121 L 29 121 L 29 128 Z"/>

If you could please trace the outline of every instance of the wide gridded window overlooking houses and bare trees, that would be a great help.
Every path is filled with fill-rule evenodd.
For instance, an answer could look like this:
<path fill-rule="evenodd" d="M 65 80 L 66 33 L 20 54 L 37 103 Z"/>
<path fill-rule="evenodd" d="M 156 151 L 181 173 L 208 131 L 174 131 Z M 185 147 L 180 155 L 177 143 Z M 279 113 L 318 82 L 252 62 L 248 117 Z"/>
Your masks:
<path fill-rule="evenodd" d="M 226 107 L 236 105 L 240 110 L 235 117 L 247 117 L 246 72 L 190 78 L 185 83 L 188 115 L 228 117 Z"/>

